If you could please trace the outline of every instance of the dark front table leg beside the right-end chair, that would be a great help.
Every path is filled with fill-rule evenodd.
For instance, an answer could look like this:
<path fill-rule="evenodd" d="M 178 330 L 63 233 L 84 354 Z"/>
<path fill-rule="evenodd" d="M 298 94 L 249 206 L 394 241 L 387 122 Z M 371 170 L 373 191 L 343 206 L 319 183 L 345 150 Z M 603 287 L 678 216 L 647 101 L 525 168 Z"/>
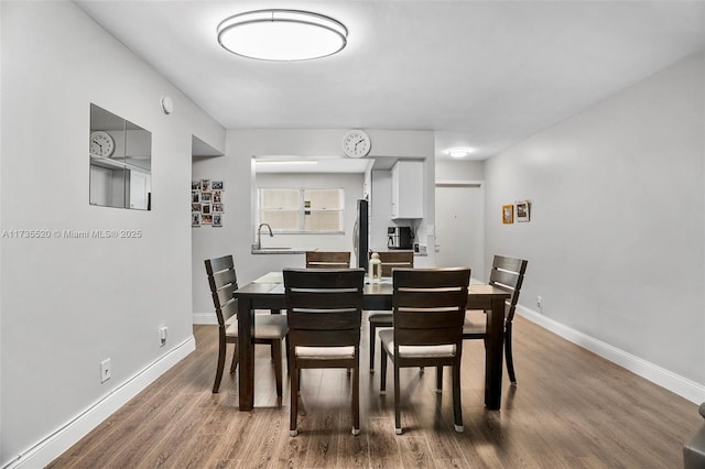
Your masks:
<path fill-rule="evenodd" d="M 505 340 L 505 299 L 494 299 L 487 312 L 487 347 L 485 349 L 485 405 L 499 410 L 502 397 L 502 352 Z"/>

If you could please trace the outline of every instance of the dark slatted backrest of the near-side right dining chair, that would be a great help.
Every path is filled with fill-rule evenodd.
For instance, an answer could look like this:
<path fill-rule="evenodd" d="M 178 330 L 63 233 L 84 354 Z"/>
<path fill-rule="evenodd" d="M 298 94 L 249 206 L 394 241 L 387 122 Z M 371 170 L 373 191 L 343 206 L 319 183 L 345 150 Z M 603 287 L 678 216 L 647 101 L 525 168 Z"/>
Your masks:
<path fill-rule="evenodd" d="M 460 347 L 470 269 L 395 269 L 392 279 L 394 347 Z"/>

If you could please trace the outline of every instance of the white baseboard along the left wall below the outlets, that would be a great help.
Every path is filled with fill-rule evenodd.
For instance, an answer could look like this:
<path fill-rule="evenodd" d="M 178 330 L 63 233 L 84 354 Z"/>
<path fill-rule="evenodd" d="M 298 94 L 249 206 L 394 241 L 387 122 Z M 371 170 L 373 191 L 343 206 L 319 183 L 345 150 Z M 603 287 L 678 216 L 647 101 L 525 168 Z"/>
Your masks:
<path fill-rule="evenodd" d="M 191 336 L 15 459 L 6 461 L 2 469 L 45 467 L 194 350 L 196 340 Z"/>

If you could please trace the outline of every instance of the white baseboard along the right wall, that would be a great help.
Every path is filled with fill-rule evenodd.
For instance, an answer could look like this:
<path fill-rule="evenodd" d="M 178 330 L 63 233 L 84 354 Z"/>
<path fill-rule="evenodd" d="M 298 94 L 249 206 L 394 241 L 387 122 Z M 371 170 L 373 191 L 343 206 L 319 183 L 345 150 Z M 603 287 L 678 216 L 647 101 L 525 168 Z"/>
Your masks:
<path fill-rule="evenodd" d="M 705 385 L 703 384 L 698 384 L 695 381 L 691 381 L 672 371 L 658 367 L 642 358 L 572 329 L 527 307 L 517 306 L 517 314 L 695 404 L 705 402 Z"/>

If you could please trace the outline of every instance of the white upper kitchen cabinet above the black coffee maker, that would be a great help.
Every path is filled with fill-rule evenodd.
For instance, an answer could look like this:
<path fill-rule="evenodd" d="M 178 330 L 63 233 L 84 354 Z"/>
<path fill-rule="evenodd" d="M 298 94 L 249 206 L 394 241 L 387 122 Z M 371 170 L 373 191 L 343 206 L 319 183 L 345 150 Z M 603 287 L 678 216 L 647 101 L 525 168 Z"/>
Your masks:
<path fill-rule="evenodd" d="M 392 219 L 423 218 L 423 162 L 398 161 L 392 167 Z"/>

